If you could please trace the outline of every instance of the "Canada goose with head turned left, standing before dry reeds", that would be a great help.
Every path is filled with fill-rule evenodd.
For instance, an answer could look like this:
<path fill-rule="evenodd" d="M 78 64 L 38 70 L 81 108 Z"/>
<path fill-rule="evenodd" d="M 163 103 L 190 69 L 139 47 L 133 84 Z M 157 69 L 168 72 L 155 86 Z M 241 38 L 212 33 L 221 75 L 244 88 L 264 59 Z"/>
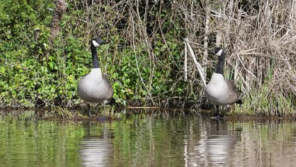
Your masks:
<path fill-rule="evenodd" d="M 236 88 L 233 81 L 224 79 L 223 67 L 225 60 L 225 52 L 221 47 L 217 47 L 211 54 L 218 56 L 218 63 L 216 65 L 215 72 L 212 75 L 211 81 L 206 85 L 206 98 L 212 104 L 216 105 L 215 115 L 219 118 L 219 106 L 227 106 L 234 103 L 242 104 L 242 101 L 238 99 L 240 91 Z"/>

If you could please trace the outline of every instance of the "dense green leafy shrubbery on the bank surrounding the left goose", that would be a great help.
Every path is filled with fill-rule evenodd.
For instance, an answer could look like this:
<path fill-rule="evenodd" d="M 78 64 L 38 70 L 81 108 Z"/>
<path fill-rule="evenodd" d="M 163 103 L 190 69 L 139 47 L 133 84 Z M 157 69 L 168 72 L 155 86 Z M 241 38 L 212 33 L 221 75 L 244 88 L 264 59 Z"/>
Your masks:
<path fill-rule="evenodd" d="M 54 3 L 42 0 L 1 1 L 1 106 L 80 104 L 82 101 L 76 95 L 76 84 L 83 74 L 90 71 L 88 41 L 97 35 L 110 42 L 110 45 L 98 49 L 99 61 L 113 83 L 117 102 L 167 106 L 167 97 L 183 96 L 186 84 L 182 81 L 176 83 L 179 69 L 173 70 L 175 65 L 172 64 L 180 60 L 180 47 L 174 39 L 177 32 L 163 34 L 168 40 L 167 45 L 161 42 L 159 33 L 155 34 L 157 42 L 154 42 L 153 54 L 156 60 L 151 61 L 145 44 L 135 44 L 136 48 L 126 47 L 126 42 L 130 41 L 122 38 L 122 30 L 113 26 L 115 18 L 110 17 L 116 15 L 113 16 L 112 12 L 108 18 L 100 20 L 95 29 L 99 29 L 99 33 L 89 32 L 88 27 L 78 21 L 85 15 L 82 6 L 80 2 L 69 2 L 60 23 L 60 35 L 50 49 L 48 38 L 52 13 L 47 8 L 55 8 Z M 92 8 L 110 10 L 110 6 L 101 4 Z M 89 22 L 92 20 L 90 17 Z M 34 39 L 35 28 L 41 32 L 38 41 Z M 166 54 L 167 47 L 170 47 L 170 54 Z M 50 52 L 49 60 L 45 61 L 47 51 Z"/>

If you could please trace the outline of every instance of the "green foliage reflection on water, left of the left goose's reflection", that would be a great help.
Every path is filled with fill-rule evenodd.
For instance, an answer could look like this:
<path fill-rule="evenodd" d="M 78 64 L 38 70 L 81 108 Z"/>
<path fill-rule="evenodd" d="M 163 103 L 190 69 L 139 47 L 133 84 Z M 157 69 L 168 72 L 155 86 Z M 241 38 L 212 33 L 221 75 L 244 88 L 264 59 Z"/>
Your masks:
<path fill-rule="evenodd" d="M 0 118 L 1 166 L 79 166 L 81 123 Z"/>

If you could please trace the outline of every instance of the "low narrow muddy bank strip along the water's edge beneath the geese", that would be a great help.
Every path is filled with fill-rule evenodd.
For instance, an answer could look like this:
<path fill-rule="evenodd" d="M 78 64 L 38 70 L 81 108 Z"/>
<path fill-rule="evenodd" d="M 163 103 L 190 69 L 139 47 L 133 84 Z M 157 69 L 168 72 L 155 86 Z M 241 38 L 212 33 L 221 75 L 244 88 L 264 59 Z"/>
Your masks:
<path fill-rule="evenodd" d="M 88 116 L 87 109 L 85 107 L 76 108 L 28 108 L 28 109 L 0 109 L 0 114 L 12 114 L 14 116 L 29 116 L 30 118 L 38 118 L 40 120 L 101 120 L 103 118 L 103 108 L 96 109 L 97 113 L 92 108 L 92 116 Z M 213 117 L 213 110 L 201 110 L 201 109 L 167 109 L 157 106 L 149 107 L 106 107 L 106 120 L 120 120 L 122 114 L 145 114 L 154 117 L 158 116 L 183 116 L 192 115 L 200 116 L 203 118 Z M 268 116 L 262 113 L 254 113 L 249 115 L 246 113 L 238 113 L 236 111 L 221 111 L 223 118 L 221 120 L 295 120 L 296 116 Z"/>

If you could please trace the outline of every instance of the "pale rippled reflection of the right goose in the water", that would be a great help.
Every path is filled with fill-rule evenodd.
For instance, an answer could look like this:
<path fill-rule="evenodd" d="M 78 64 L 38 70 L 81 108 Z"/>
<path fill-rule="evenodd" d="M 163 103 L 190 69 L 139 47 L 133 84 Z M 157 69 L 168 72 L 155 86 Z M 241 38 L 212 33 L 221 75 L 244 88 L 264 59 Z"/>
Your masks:
<path fill-rule="evenodd" d="M 212 121 L 211 125 L 200 125 L 200 139 L 193 152 L 186 152 L 185 166 L 226 166 L 233 156 L 233 147 L 239 141 L 238 134 L 231 134 L 227 124 Z"/>

